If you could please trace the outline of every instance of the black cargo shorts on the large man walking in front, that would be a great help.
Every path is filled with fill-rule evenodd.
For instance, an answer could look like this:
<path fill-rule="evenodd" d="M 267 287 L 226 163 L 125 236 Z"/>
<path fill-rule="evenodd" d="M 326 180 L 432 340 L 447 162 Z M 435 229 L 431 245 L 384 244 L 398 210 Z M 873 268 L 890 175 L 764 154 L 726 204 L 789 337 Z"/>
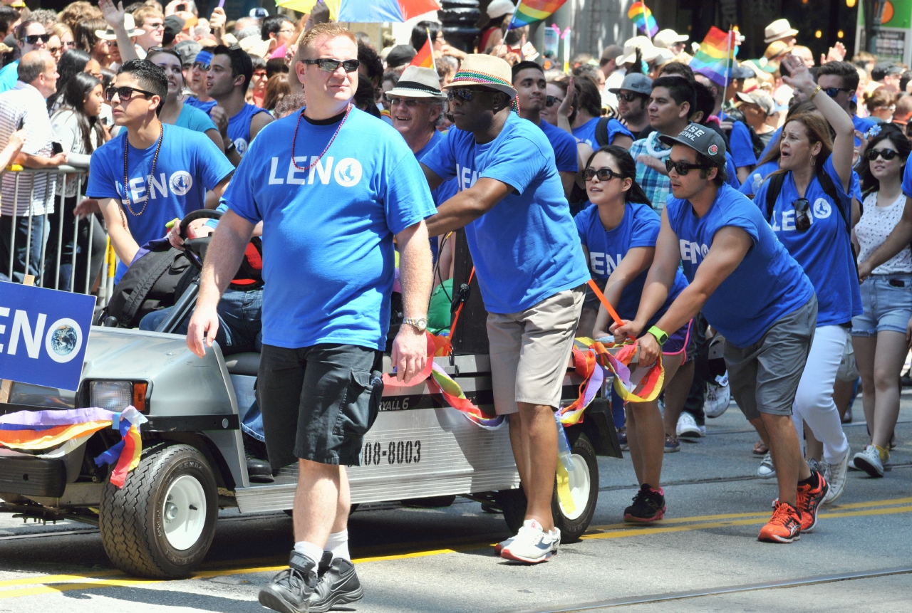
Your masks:
<path fill-rule="evenodd" d="M 256 400 L 273 470 L 298 458 L 360 464 L 383 395 L 383 353 L 357 345 L 263 345 Z"/>

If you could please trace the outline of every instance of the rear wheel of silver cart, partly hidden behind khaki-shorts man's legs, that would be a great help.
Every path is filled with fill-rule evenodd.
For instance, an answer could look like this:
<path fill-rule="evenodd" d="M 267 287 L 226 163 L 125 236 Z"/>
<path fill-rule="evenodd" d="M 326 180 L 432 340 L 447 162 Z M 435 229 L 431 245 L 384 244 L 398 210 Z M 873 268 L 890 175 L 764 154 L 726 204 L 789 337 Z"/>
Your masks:
<path fill-rule="evenodd" d="M 598 460 L 596 450 L 586 437 L 580 434 L 570 450 L 574 461 L 574 470 L 570 476 L 570 496 L 575 509 L 565 509 L 557 497 L 557 482 L 554 481 L 554 494 L 551 498 L 551 514 L 554 526 L 561 531 L 562 543 L 573 543 L 586 532 L 592 516 L 596 513 L 598 502 Z M 496 495 L 497 504 L 503 509 L 503 519 L 513 534 L 523 526 L 525 519 L 526 498 L 523 488 L 502 490 Z"/>

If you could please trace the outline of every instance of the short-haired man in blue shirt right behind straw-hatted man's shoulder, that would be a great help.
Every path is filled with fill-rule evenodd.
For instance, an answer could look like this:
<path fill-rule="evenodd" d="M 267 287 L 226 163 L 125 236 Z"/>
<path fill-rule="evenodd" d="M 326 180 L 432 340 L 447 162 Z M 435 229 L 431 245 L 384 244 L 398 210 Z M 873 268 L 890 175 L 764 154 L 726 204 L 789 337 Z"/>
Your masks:
<path fill-rule="evenodd" d="M 557 174 L 564 185 L 564 196 L 570 198 L 579 162 L 576 160 L 576 139 L 566 130 L 552 126 L 542 120 L 545 91 L 548 84 L 544 80 L 542 66 L 534 62 L 520 62 L 513 65 L 513 87 L 516 89 L 516 102 L 519 103 L 519 116 L 528 119 L 539 128 L 554 149 L 554 161 Z"/>

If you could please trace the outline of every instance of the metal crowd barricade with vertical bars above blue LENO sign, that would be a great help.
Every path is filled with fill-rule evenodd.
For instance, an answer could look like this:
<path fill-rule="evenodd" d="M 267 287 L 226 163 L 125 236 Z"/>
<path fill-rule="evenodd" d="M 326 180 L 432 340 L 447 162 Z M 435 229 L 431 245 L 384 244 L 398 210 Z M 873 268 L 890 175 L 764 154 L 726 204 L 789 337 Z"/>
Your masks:
<path fill-rule="evenodd" d="M 45 219 L 46 223 L 43 224 L 41 232 L 39 234 L 39 240 L 41 240 L 41 255 L 40 261 L 38 262 L 36 275 L 36 286 L 50 288 L 53 290 L 61 291 L 74 291 L 78 293 L 97 293 L 98 295 L 98 306 L 105 306 L 114 289 L 114 271 L 117 268 L 117 256 L 114 254 L 114 250 L 110 245 L 110 240 L 107 240 L 107 245 L 105 247 L 104 255 L 102 256 L 104 261 L 97 276 L 91 274 L 92 271 L 92 240 L 95 232 L 95 224 L 93 223 L 93 215 L 89 215 L 84 219 L 79 219 L 78 217 L 73 220 L 72 226 L 65 228 L 67 223 L 67 215 L 65 213 L 65 207 L 67 206 L 65 200 L 67 199 L 67 181 L 76 182 L 76 195 L 77 201 L 81 199 L 82 186 L 86 178 L 87 169 L 78 169 L 72 166 L 58 166 L 55 169 L 26 169 L 19 165 L 13 165 L 6 169 L 5 174 L 13 174 L 16 176 L 16 187 L 14 189 L 14 202 L 6 203 L 2 202 L 5 209 L 11 208 L 13 211 L 12 221 L 10 223 L 10 234 L 8 237 L 7 244 L 9 245 L 9 260 L 6 262 L 0 262 L 0 271 L 5 272 L 6 276 L 10 281 L 16 281 L 14 276 L 15 264 L 16 264 L 16 220 L 22 219 L 23 217 L 28 218 L 27 230 L 26 230 L 26 257 L 25 257 L 25 272 L 29 273 L 29 264 L 32 260 L 32 229 L 33 221 L 36 217 L 36 198 L 35 198 L 35 180 L 41 175 L 47 176 L 47 183 L 44 189 L 44 196 L 41 198 L 41 201 L 45 209 Z M 23 177 L 32 176 L 34 179 L 31 181 L 30 188 L 30 197 L 29 197 L 29 206 L 28 212 L 26 215 L 16 215 L 17 209 L 19 207 L 16 204 L 19 202 L 20 194 L 20 183 L 23 182 Z M 27 183 L 27 182 L 26 182 Z M 54 186 L 54 189 L 51 187 Z M 23 189 L 29 189 L 23 187 Z M 53 200 L 57 199 L 56 202 Z M 10 207 L 9 204 L 12 206 Z M 53 224 L 56 227 L 51 227 L 51 221 L 48 220 L 51 215 L 47 212 L 50 206 L 53 204 L 54 210 L 57 212 L 55 219 L 57 220 L 56 224 Z M 86 261 L 86 270 L 85 276 L 77 280 L 77 271 L 78 271 L 78 259 L 80 255 L 80 242 L 79 242 L 79 233 L 80 233 L 80 224 L 88 224 L 88 240 L 85 242 L 85 261 Z M 82 226 L 82 228 L 85 228 Z M 67 264 L 64 261 L 63 249 L 64 245 L 67 242 L 69 237 L 72 237 L 72 249 L 69 254 L 69 283 L 64 283 L 67 287 L 61 287 L 60 279 L 60 270 L 61 266 Z M 48 239 L 51 237 L 56 237 L 56 257 L 53 261 L 47 261 L 47 243 Z"/>

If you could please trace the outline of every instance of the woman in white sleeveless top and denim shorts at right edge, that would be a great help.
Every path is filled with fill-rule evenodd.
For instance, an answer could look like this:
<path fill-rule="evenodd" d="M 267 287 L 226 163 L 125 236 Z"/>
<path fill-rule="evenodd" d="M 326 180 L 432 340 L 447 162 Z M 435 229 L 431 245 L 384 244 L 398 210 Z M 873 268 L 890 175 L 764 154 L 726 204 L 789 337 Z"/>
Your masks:
<path fill-rule="evenodd" d="M 912 144 L 893 124 L 878 124 L 867 133 L 865 158 L 859 165 L 865 203 L 855 226 L 858 263 L 874 253 L 896 227 L 906 206 L 903 172 Z M 906 246 L 878 266 L 861 284 L 864 313 L 852 318 L 855 362 L 865 394 L 865 422 L 871 442 L 855 454 L 855 468 L 884 476 L 890 437 L 899 416 L 896 382 L 912 338 L 912 251 Z"/>

